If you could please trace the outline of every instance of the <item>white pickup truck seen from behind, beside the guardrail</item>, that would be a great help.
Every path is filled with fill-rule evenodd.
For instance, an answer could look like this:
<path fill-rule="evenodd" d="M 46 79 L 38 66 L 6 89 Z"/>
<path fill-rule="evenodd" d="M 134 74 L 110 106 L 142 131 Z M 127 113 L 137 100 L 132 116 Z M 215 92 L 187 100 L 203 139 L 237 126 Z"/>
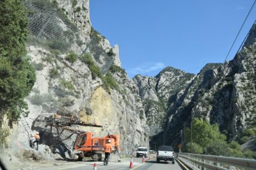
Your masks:
<path fill-rule="evenodd" d="M 173 147 L 168 145 L 161 145 L 159 147 L 156 162 L 160 163 L 160 161 L 172 161 L 173 164 L 175 163 Z"/>

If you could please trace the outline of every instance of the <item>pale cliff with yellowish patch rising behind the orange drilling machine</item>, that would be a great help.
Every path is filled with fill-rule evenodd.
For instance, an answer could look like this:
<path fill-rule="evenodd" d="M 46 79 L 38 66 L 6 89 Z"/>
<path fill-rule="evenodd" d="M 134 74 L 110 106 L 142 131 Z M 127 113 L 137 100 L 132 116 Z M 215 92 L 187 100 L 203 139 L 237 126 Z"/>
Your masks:
<path fill-rule="evenodd" d="M 121 68 L 118 46 L 111 47 L 93 29 L 89 1 L 23 3 L 29 11 L 27 52 L 36 70 L 36 83 L 26 99 L 30 111 L 26 119 L 33 132 L 40 132 L 40 151 L 56 157 L 50 148 L 58 142 L 54 140 L 56 130 L 45 132 L 44 125 L 35 123 L 43 113 L 76 113 L 82 121 L 100 124 L 102 128 L 79 127 L 95 137 L 119 134 L 121 155 L 131 154 L 138 146 L 148 147 L 148 126 L 137 86 Z M 60 138 L 69 135 L 64 132 Z M 70 146 L 72 140 L 74 137 L 64 143 Z M 6 145 L 5 162 L 20 160 L 24 156 L 19 155 L 28 150 L 27 132 L 20 121 Z M 59 150 L 63 157 L 61 152 L 66 151 Z"/>

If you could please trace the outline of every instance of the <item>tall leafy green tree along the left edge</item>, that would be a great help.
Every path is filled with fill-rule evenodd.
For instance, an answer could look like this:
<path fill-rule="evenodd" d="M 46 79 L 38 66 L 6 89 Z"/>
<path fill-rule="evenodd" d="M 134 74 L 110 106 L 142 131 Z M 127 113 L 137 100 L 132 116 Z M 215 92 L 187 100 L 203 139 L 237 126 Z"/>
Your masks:
<path fill-rule="evenodd" d="M 22 112 L 28 113 L 24 98 L 35 83 L 35 70 L 26 55 L 26 12 L 19 0 L 0 2 L 0 126 L 5 116 L 11 125 Z M 0 134 L 6 137 L 7 129 L 1 129 Z"/>

